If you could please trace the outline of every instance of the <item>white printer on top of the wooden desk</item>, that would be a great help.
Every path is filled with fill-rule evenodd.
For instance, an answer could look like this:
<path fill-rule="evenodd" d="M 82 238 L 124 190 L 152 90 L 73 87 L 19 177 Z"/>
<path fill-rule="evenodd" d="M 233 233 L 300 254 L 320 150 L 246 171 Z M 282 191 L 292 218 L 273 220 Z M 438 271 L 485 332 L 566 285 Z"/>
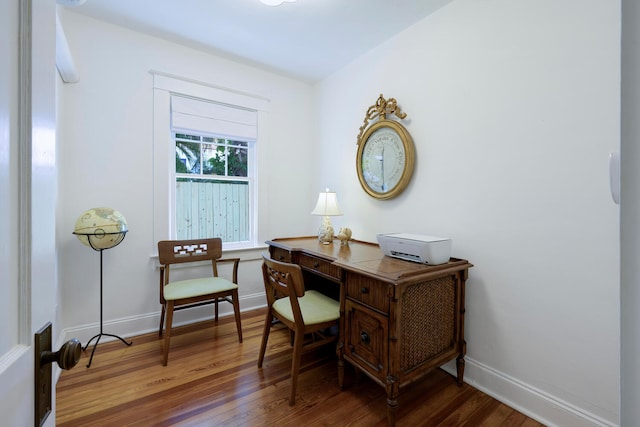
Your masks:
<path fill-rule="evenodd" d="M 421 234 L 378 234 L 385 255 L 423 264 L 444 264 L 451 257 L 451 239 Z"/>

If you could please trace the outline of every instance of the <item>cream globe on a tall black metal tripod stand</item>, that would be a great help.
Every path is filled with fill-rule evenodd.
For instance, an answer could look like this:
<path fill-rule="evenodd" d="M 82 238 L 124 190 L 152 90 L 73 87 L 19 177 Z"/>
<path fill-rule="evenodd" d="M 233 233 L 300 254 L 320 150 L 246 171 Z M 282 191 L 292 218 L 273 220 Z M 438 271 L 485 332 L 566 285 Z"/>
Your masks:
<path fill-rule="evenodd" d="M 82 349 L 86 351 L 91 342 L 96 340 L 87 368 L 91 366 L 93 353 L 95 353 L 100 338 L 103 336 L 117 338 L 127 346 L 133 344 L 132 342 L 126 342 L 118 335 L 105 333 L 102 321 L 102 252 L 105 249 L 118 246 L 124 240 L 127 231 L 129 230 L 124 216 L 111 208 L 93 208 L 83 212 L 76 221 L 76 226 L 73 231 L 73 234 L 76 235 L 80 242 L 100 252 L 100 333 L 94 335 Z"/>

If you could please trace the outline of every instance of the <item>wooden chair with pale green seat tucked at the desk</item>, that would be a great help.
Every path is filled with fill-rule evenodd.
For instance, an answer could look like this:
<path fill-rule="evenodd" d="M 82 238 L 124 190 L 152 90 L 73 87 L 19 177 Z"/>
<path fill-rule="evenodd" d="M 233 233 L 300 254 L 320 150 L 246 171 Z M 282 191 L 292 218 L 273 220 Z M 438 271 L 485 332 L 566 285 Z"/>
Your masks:
<path fill-rule="evenodd" d="M 271 325 L 274 319 L 278 319 L 293 332 L 289 405 L 294 405 L 302 352 L 337 340 L 337 335 L 325 334 L 323 330 L 338 325 L 340 303 L 317 291 L 305 292 L 299 265 L 275 261 L 266 254 L 262 257 L 262 275 L 268 307 L 258 368 L 262 368 Z M 313 338 L 309 343 L 304 342 L 307 335 Z"/>

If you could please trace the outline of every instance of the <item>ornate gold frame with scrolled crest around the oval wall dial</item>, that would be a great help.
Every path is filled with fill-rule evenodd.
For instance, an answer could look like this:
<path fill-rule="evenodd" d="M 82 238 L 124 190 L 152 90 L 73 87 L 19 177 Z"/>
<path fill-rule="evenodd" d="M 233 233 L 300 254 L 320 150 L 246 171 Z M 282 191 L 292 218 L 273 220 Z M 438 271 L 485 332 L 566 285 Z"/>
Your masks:
<path fill-rule="evenodd" d="M 406 113 L 400 111 L 395 98 L 389 98 L 388 100 L 385 100 L 382 94 L 380 94 L 376 103 L 369 107 L 369 109 L 367 110 L 364 124 L 360 127 L 360 133 L 358 134 L 358 153 L 356 154 L 356 171 L 358 172 L 358 180 L 360 181 L 362 189 L 371 197 L 378 200 L 393 199 L 394 197 L 397 197 L 400 193 L 402 193 L 407 185 L 409 185 L 409 181 L 411 181 L 411 176 L 413 175 L 413 165 L 415 163 L 415 148 L 411 135 L 401 123 L 395 120 L 387 119 L 387 115 L 389 114 L 395 114 L 400 119 L 404 119 L 407 116 Z M 371 126 L 367 127 L 369 125 L 369 121 L 376 118 L 378 118 L 379 120 Z M 405 153 L 404 168 L 402 170 L 400 180 L 393 188 L 385 192 L 375 191 L 371 187 L 369 187 L 364 179 L 364 174 L 362 171 L 362 155 L 364 153 L 364 148 L 367 145 L 367 142 L 371 135 L 373 135 L 375 131 L 381 128 L 388 128 L 398 135 L 398 138 L 400 138 L 400 141 L 402 141 Z"/>

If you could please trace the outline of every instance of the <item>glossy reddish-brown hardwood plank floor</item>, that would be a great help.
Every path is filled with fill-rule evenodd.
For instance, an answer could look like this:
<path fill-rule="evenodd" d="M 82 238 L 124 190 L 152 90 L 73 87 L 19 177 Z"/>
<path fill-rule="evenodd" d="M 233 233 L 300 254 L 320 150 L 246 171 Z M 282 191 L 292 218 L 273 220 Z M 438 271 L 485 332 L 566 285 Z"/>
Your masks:
<path fill-rule="evenodd" d="M 56 425 L 65 426 L 386 426 L 384 389 L 347 364 L 338 388 L 335 351 L 306 353 L 296 405 L 288 405 L 291 347 L 274 327 L 257 368 L 264 310 L 243 313 L 239 344 L 232 317 L 176 328 L 162 366 L 157 333 L 101 343 L 57 384 Z M 436 369 L 400 390 L 398 426 L 524 426 L 527 418 Z"/>

